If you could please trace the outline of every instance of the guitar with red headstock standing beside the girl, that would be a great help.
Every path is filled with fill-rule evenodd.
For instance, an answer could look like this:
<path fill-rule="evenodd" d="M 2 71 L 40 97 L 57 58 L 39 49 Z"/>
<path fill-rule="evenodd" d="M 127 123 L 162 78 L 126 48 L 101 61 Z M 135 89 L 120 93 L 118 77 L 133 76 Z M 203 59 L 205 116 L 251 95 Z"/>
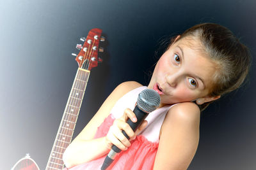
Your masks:
<path fill-rule="evenodd" d="M 90 70 L 93 67 L 97 67 L 98 62 L 102 62 L 102 59 L 98 57 L 98 51 L 103 52 L 103 48 L 99 47 L 99 43 L 105 40 L 101 36 L 101 33 L 101 29 L 95 28 L 90 30 L 87 38 L 80 38 L 81 41 L 84 41 L 83 45 L 77 44 L 76 46 L 80 50 L 79 53 L 77 55 L 72 53 L 72 55 L 76 56 L 79 67 L 72 89 L 70 90 L 54 145 L 52 146 L 51 154 L 45 168 L 46 170 L 63 169 L 64 167 L 62 156 L 73 136 Z M 26 157 L 20 159 L 13 166 L 12 170 L 39 170 L 39 167 L 27 154 Z"/>

